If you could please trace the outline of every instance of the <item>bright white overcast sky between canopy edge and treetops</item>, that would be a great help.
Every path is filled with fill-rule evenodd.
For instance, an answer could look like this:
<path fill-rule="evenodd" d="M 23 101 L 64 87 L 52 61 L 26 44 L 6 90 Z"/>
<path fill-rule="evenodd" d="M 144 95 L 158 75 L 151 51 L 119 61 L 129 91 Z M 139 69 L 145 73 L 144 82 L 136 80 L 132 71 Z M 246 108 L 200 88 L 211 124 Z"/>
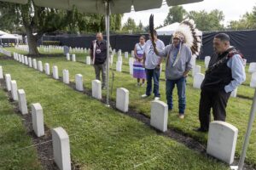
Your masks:
<path fill-rule="evenodd" d="M 239 20 L 246 12 L 252 12 L 253 6 L 256 6 L 256 0 L 204 0 L 201 3 L 191 3 L 183 5 L 186 11 L 201 11 L 206 10 L 210 12 L 213 9 L 218 8 L 224 12 L 224 26 L 228 26 L 230 20 Z M 148 19 L 150 14 L 154 14 L 154 26 L 160 26 L 164 24 L 164 20 L 169 12 L 169 7 L 163 5 L 161 8 L 145 10 L 141 12 L 125 13 L 122 19 L 124 25 L 128 17 L 131 17 L 135 22 L 139 23 L 141 20 L 143 26 L 148 26 Z"/>

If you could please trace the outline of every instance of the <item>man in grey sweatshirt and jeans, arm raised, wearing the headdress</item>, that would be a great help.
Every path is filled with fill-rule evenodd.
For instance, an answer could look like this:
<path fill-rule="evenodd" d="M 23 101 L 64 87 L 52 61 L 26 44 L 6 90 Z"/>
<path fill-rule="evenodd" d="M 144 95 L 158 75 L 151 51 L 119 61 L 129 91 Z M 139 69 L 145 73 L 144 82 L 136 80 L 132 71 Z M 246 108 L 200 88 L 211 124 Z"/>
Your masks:
<path fill-rule="evenodd" d="M 166 57 L 166 99 L 168 110 L 172 111 L 172 92 L 177 85 L 178 112 L 181 119 L 184 118 L 186 108 L 186 77 L 192 69 L 190 60 L 192 52 L 183 43 L 184 36 L 181 32 L 176 32 L 172 36 L 172 44 L 167 45 L 164 50 L 154 48 L 155 54 Z"/>

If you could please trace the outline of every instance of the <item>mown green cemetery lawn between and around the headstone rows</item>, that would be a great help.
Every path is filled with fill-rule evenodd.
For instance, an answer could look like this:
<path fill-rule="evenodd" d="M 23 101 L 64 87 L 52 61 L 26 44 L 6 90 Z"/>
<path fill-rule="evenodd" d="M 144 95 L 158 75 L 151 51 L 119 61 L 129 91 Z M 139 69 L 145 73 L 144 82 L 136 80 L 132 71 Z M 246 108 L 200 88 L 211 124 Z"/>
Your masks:
<path fill-rule="evenodd" d="M 14 49 L 10 48 L 9 50 Z M 18 53 L 24 54 L 22 51 L 18 51 Z M 62 57 L 37 58 L 37 60 L 49 63 L 50 68 L 57 65 L 60 76 L 62 76 L 62 70 L 67 69 L 71 82 L 74 82 L 76 74 L 82 74 L 84 87 L 90 90 L 91 80 L 95 79 L 95 74 L 91 65 L 84 64 L 85 56 L 86 54 L 77 54 L 77 61 L 79 62 L 67 61 L 63 55 Z M 228 168 L 226 164 L 220 161 L 206 157 L 195 150 L 189 150 L 183 144 L 178 144 L 176 141 L 156 133 L 134 118 L 121 115 L 117 111 L 107 108 L 88 95 L 75 92 L 62 82 L 55 81 L 15 60 L 1 58 L 3 72 L 10 73 L 12 79 L 17 81 L 18 88 L 23 88 L 26 91 L 28 105 L 39 102 L 43 106 L 44 123 L 50 128 L 61 126 L 67 130 L 71 140 L 72 160 L 78 163 L 81 169 L 133 169 L 136 166 L 138 169 L 154 169 L 155 167 L 160 169 Z M 116 60 L 116 57 L 114 59 Z M 204 68 L 202 62 L 197 62 L 197 64 Z M 113 72 L 110 72 L 110 87 L 113 85 L 111 99 L 115 100 L 116 88 L 127 88 L 130 93 L 131 109 L 149 117 L 150 101 L 153 97 L 140 98 L 144 94 L 145 87 L 135 86 L 136 80 L 129 75 L 128 59 L 123 58 L 122 71 L 115 71 L 114 61 Z M 204 72 L 203 69 L 201 72 Z M 164 79 L 164 72 L 161 73 L 161 79 Z M 248 114 L 252 105 L 253 88 L 249 88 L 249 80 L 250 76 L 247 74 L 247 82 L 238 88 L 238 97 L 231 98 L 227 108 L 227 122 L 239 129 L 236 156 L 241 152 Z M 1 90 L 4 95 L 3 89 Z M 161 100 L 166 102 L 165 82 L 163 80 L 160 81 L 160 94 Z M 105 96 L 106 92 L 102 91 L 102 95 Z M 188 77 L 186 117 L 184 120 L 180 120 L 177 116 L 177 91 L 175 90 L 174 110 L 169 113 L 168 127 L 200 141 L 201 144 L 206 144 L 207 134 L 193 131 L 193 128 L 199 126 L 197 113 L 199 97 L 200 90 L 192 88 L 192 77 Z M 5 107 L 11 108 L 7 105 L 4 105 Z M 9 114 L 14 113 L 10 111 Z M 19 118 L 19 116 L 17 117 Z M 3 118 L 3 121 L 7 122 L 5 119 Z M 6 127 L 3 129 L 9 131 Z M 254 125 L 251 142 L 247 150 L 247 163 L 254 166 L 256 164 L 255 130 Z M 20 132 L 13 133 L 20 135 Z M 23 136 L 31 143 L 26 134 L 23 133 Z M 3 143 L 9 144 L 9 141 L 4 140 Z M 20 143 L 22 145 L 22 141 L 18 140 L 17 144 Z M 31 149 L 31 152 L 35 154 L 35 150 Z M 18 154 L 22 153 L 19 152 Z M 10 157 L 8 160 L 13 159 Z M 3 163 L 8 162 L 4 161 Z M 16 163 L 26 162 L 17 160 Z M 27 166 L 31 167 L 29 162 Z"/>

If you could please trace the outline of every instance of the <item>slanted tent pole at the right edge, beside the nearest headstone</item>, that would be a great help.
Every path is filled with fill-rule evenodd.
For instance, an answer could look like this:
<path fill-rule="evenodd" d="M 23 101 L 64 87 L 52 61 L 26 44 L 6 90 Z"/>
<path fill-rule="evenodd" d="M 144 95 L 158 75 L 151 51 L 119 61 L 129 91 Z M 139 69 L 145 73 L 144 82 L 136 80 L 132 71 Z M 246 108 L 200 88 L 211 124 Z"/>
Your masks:
<path fill-rule="evenodd" d="M 252 105 L 252 108 L 251 108 L 251 114 L 250 114 L 248 125 L 247 125 L 247 133 L 246 133 L 246 136 L 245 136 L 245 139 L 244 139 L 244 142 L 243 142 L 241 157 L 240 157 L 240 160 L 239 160 L 239 163 L 238 163 L 238 170 L 242 170 L 243 165 L 244 165 L 244 160 L 245 160 L 246 153 L 247 153 L 247 147 L 248 147 L 248 144 L 249 144 L 250 135 L 252 133 L 255 111 L 256 111 L 256 89 L 255 89 L 255 92 L 254 92 L 253 105 Z"/>

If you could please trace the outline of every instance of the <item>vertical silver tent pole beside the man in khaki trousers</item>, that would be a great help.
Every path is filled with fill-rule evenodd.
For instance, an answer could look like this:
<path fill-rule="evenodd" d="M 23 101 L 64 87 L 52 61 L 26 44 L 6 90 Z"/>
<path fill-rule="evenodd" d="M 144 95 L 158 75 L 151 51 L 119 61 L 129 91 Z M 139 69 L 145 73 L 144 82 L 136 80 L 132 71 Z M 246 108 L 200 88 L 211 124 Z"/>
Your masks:
<path fill-rule="evenodd" d="M 106 34 L 107 34 L 107 99 L 106 99 L 106 106 L 109 106 L 109 47 L 110 47 L 110 40 L 109 40 L 109 14 L 110 14 L 110 2 L 105 2 L 105 9 L 106 9 Z"/>

